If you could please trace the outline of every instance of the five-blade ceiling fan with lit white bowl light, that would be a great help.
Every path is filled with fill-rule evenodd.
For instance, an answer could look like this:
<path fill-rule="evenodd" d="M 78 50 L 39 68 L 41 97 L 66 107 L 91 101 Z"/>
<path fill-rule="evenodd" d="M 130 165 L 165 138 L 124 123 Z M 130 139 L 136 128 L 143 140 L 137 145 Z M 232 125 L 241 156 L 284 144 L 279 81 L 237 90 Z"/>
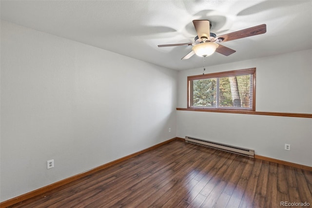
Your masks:
<path fill-rule="evenodd" d="M 229 56 L 236 52 L 235 50 L 225 47 L 220 42 L 233 41 L 240 38 L 246 38 L 249 36 L 260 35 L 267 32 L 267 25 L 260 24 L 254 27 L 246 28 L 236 32 L 228 33 L 221 36 L 216 36 L 215 33 L 210 32 L 211 23 L 209 20 L 193 20 L 197 36 L 195 42 L 191 43 L 177 43 L 158 45 L 158 47 L 167 46 L 180 46 L 180 45 L 193 45 L 192 51 L 185 55 L 182 60 L 189 59 L 194 54 L 201 57 L 212 55 L 215 51 Z"/>

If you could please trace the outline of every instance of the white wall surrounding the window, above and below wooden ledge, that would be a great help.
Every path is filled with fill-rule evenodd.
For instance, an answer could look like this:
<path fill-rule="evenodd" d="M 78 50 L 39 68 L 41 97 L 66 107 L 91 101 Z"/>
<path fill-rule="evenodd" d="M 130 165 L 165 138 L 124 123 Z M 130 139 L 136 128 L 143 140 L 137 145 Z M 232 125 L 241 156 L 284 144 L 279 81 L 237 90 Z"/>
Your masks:
<path fill-rule="evenodd" d="M 312 50 L 206 67 L 206 73 L 256 67 L 256 111 L 312 113 Z M 226 59 L 226 57 L 224 57 Z M 207 58 L 206 62 L 209 62 Z M 187 76 L 178 72 L 178 107 L 187 107 Z M 312 166 L 312 119 L 177 111 L 177 137 L 192 136 Z M 291 151 L 284 150 L 290 144 Z"/>

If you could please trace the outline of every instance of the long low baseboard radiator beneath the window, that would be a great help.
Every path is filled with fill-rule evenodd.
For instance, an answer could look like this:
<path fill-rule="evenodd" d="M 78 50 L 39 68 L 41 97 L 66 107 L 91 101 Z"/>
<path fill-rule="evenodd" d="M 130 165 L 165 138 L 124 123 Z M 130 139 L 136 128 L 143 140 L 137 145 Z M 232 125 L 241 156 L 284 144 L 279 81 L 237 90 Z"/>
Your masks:
<path fill-rule="evenodd" d="M 231 152 L 231 153 L 254 158 L 254 149 L 247 149 L 247 148 L 242 148 L 238 146 L 225 145 L 221 143 L 201 140 L 201 139 L 188 137 L 188 136 L 185 137 L 185 142 L 193 143 L 193 144 L 201 145 L 201 146 L 208 146 L 208 147 L 223 150 L 226 152 Z"/>

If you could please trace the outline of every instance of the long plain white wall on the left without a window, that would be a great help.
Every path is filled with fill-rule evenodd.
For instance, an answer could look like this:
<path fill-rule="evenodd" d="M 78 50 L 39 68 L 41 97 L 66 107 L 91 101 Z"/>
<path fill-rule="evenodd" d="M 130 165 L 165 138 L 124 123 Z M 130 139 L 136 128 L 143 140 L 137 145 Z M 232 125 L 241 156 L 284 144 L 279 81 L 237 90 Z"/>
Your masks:
<path fill-rule="evenodd" d="M 176 87 L 174 70 L 1 21 L 0 200 L 176 137 Z"/>

